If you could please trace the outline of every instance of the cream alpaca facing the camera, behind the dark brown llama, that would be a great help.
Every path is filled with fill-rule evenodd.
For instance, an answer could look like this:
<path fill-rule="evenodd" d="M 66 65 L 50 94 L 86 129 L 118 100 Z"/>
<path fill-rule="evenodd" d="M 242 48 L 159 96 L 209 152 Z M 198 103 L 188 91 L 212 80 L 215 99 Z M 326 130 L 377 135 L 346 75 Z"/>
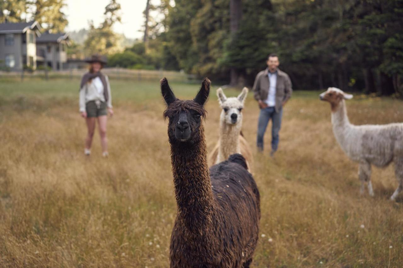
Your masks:
<path fill-rule="evenodd" d="M 218 102 L 222 108 L 220 115 L 220 137 L 210 157 L 210 165 L 218 164 L 239 153 L 246 159 L 248 171 L 253 165 L 251 148 L 242 136 L 242 109 L 248 89 L 244 87 L 238 97 L 227 98 L 221 88 L 217 89 Z"/>

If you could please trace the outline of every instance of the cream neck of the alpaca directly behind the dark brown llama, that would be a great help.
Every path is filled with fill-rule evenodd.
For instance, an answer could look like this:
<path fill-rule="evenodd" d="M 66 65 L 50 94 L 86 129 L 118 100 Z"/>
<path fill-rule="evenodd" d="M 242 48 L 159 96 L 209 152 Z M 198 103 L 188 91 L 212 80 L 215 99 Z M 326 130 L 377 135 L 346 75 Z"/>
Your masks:
<path fill-rule="evenodd" d="M 218 148 L 217 163 L 227 160 L 230 155 L 241 153 L 241 146 L 239 143 L 241 126 L 241 122 L 236 125 L 230 125 L 226 124 L 224 120 L 220 120 L 220 146 Z"/>

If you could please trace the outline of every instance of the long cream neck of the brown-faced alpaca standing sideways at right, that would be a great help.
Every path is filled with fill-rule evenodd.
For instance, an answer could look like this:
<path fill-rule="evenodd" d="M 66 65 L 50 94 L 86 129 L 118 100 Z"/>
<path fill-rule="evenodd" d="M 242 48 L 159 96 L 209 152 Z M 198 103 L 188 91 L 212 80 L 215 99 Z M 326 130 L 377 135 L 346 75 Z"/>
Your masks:
<path fill-rule="evenodd" d="M 339 142 L 341 148 L 345 152 L 349 148 L 349 131 L 352 128 L 349 118 L 347 117 L 346 103 L 344 99 L 339 103 L 338 107 L 332 111 L 333 133 Z"/>

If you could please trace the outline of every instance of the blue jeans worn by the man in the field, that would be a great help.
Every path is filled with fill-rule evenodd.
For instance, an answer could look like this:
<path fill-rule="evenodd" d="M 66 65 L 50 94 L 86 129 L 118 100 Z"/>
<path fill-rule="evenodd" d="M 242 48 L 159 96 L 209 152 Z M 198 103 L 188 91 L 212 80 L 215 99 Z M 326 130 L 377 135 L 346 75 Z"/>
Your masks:
<path fill-rule="evenodd" d="M 266 107 L 264 109 L 260 109 L 259 122 L 258 122 L 258 138 L 257 145 L 260 150 L 263 150 L 263 137 L 264 132 L 266 132 L 267 124 L 269 123 L 270 118 L 272 119 L 272 150 L 276 151 L 278 148 L 278 132 L 281 127 L 281 117 L 283 116 L 283 108 L 277 113 L 274 107 Z"/>

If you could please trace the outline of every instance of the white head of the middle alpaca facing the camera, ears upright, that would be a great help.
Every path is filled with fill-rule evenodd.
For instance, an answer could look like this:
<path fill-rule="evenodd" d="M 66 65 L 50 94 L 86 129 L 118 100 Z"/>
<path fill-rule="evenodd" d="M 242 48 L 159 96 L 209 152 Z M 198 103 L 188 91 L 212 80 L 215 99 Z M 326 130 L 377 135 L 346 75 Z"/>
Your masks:
<path fill-rule="evenodd" d="M 227 98 L 221 88 L 217 89 L 218 102 L 222 108 L 221 121 L 233 126 L 242 124 L 242 109 L 247 93 L 248 89 L 244 87 L 238 97 Z"/>

